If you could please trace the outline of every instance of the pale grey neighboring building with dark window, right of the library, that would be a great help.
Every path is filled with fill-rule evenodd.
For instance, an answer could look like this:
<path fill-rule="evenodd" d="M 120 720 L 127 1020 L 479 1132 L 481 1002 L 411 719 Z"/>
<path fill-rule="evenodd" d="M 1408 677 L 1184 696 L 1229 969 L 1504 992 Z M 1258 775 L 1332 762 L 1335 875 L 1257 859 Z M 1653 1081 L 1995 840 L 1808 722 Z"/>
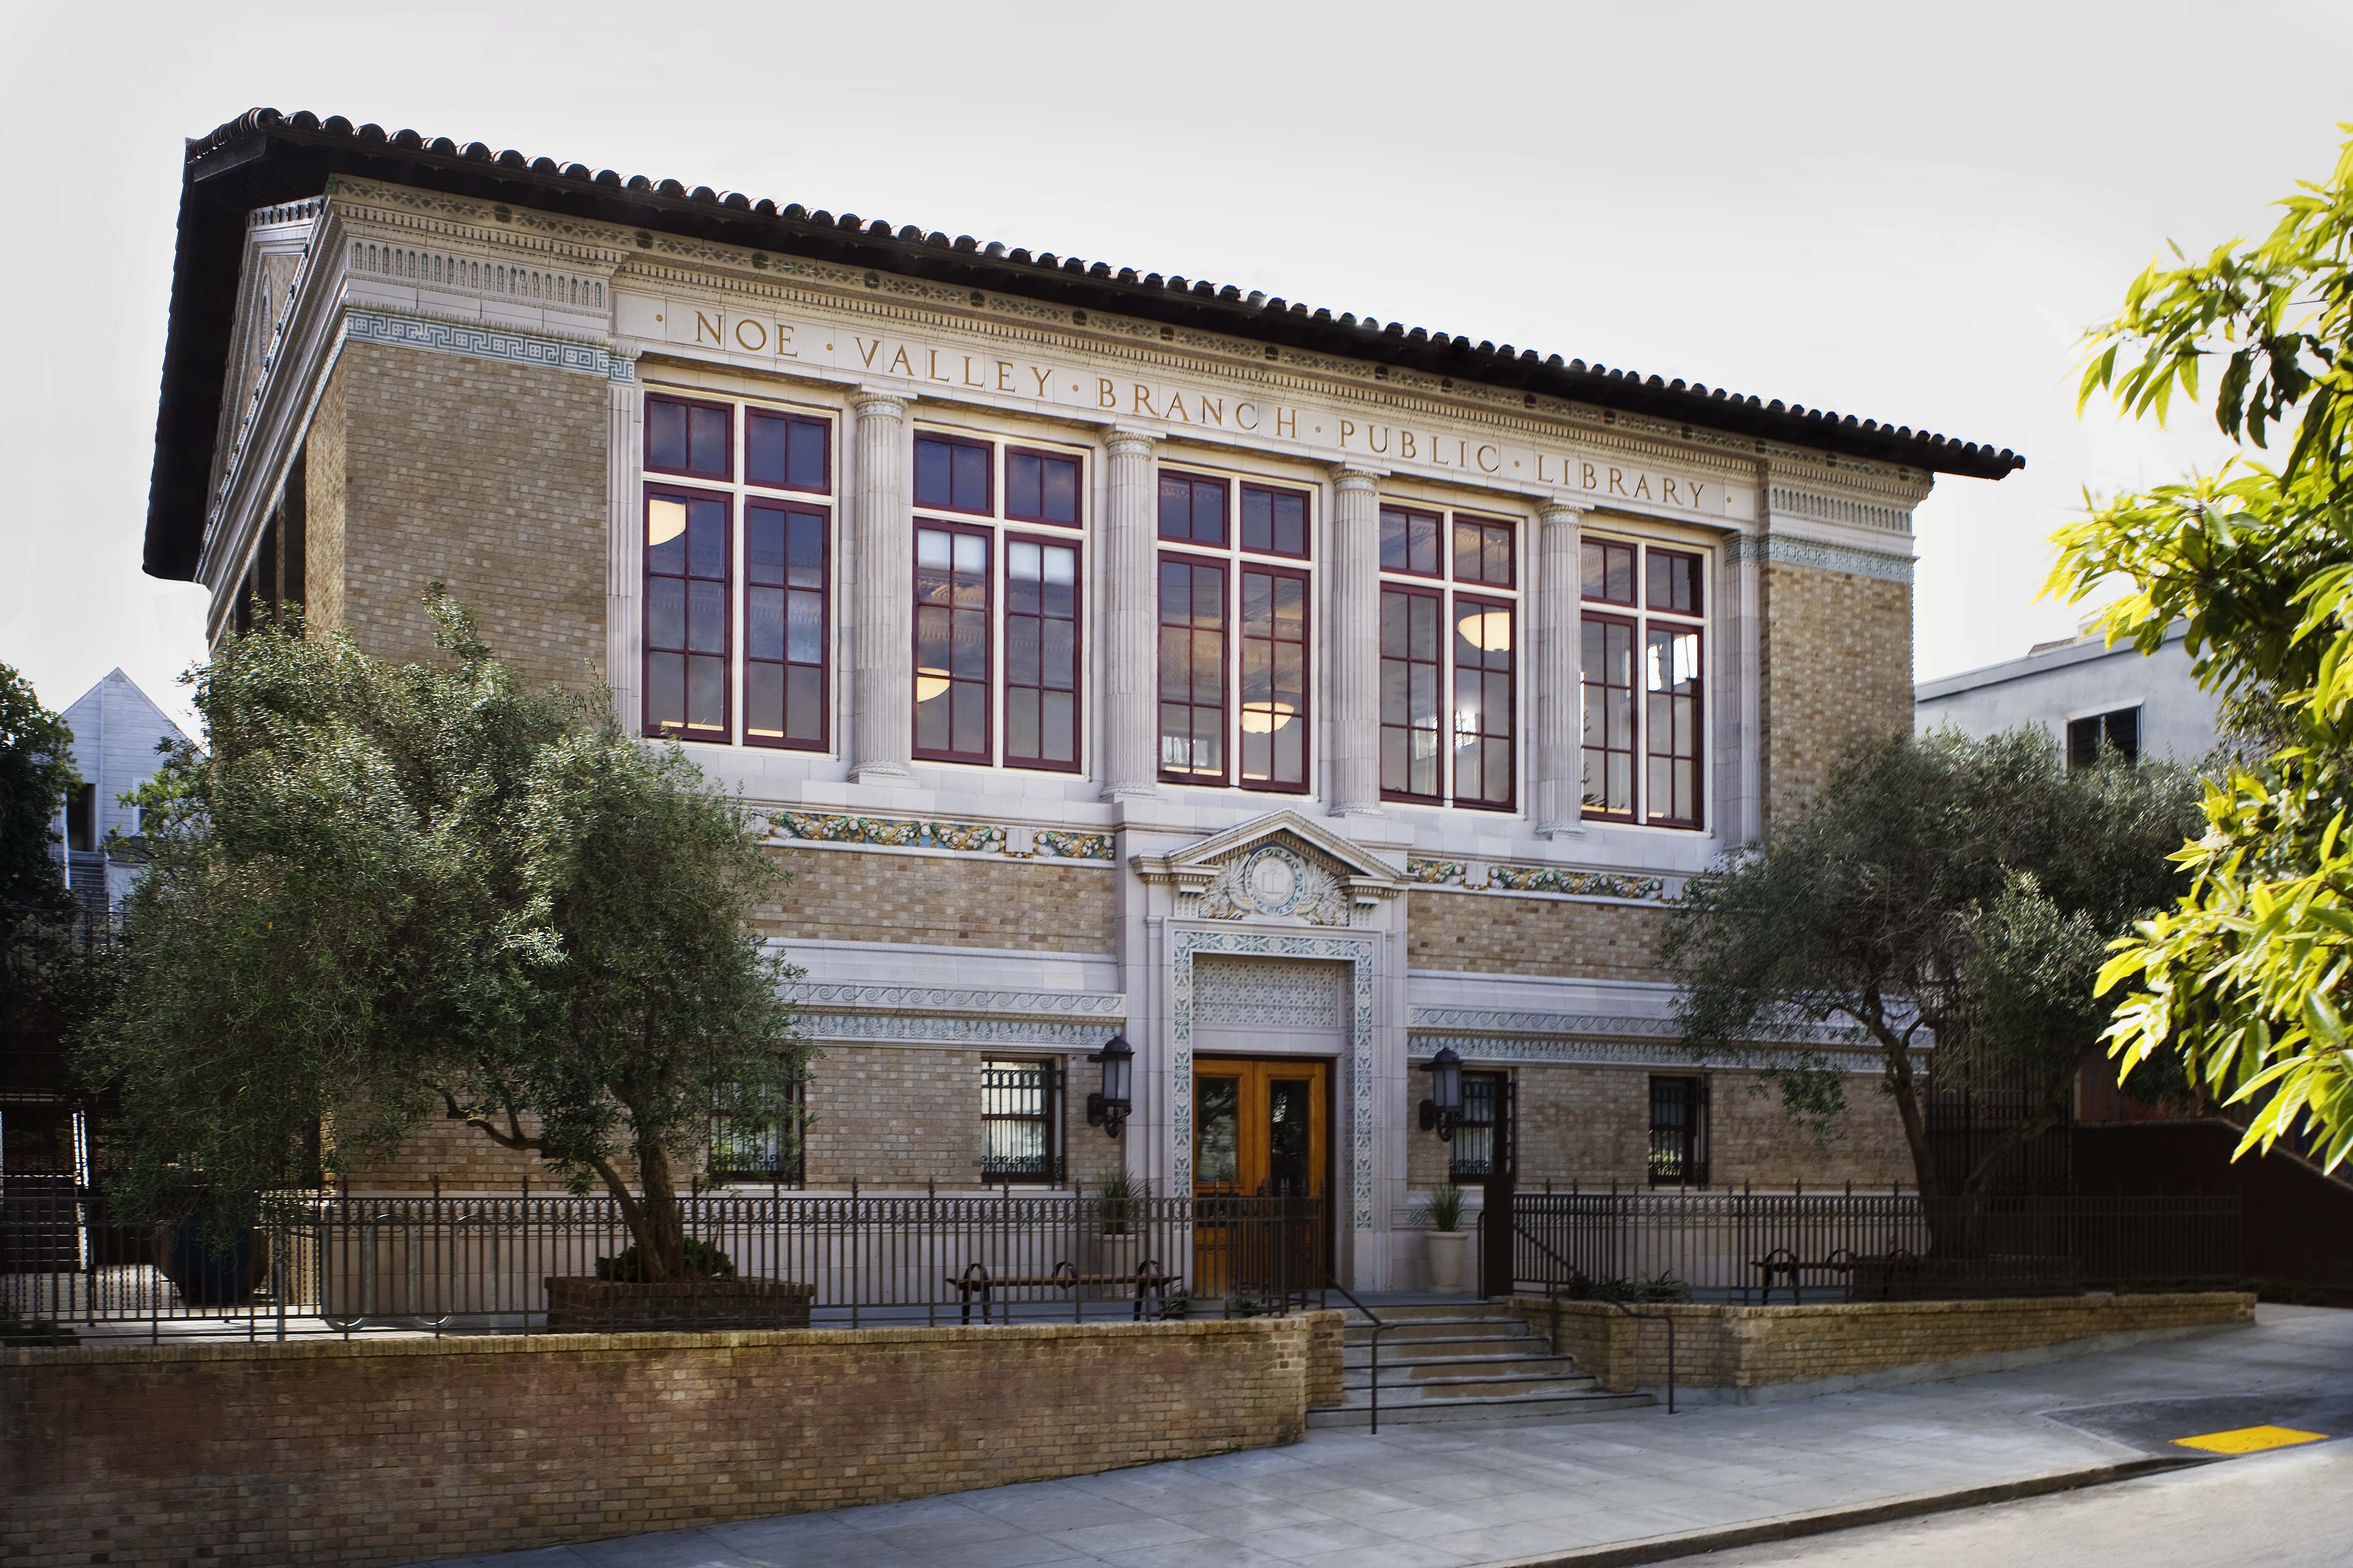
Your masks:
<path fill-rule="evenodd" d="M 2160 651 L 2141 654 L 2087 632 L 2035 644 L 2026 658 L 1920 682 L 1913 726 L 1922 736 L 1951 726 L 1984 738 L 2040 724 L 2066 748 L 2068 766 L 2094 762 L 2104 748 L 2198 764 L 2221 745 L 2219 705 L 2198 689 L 2181 635 L 2177 625 Z"/>

